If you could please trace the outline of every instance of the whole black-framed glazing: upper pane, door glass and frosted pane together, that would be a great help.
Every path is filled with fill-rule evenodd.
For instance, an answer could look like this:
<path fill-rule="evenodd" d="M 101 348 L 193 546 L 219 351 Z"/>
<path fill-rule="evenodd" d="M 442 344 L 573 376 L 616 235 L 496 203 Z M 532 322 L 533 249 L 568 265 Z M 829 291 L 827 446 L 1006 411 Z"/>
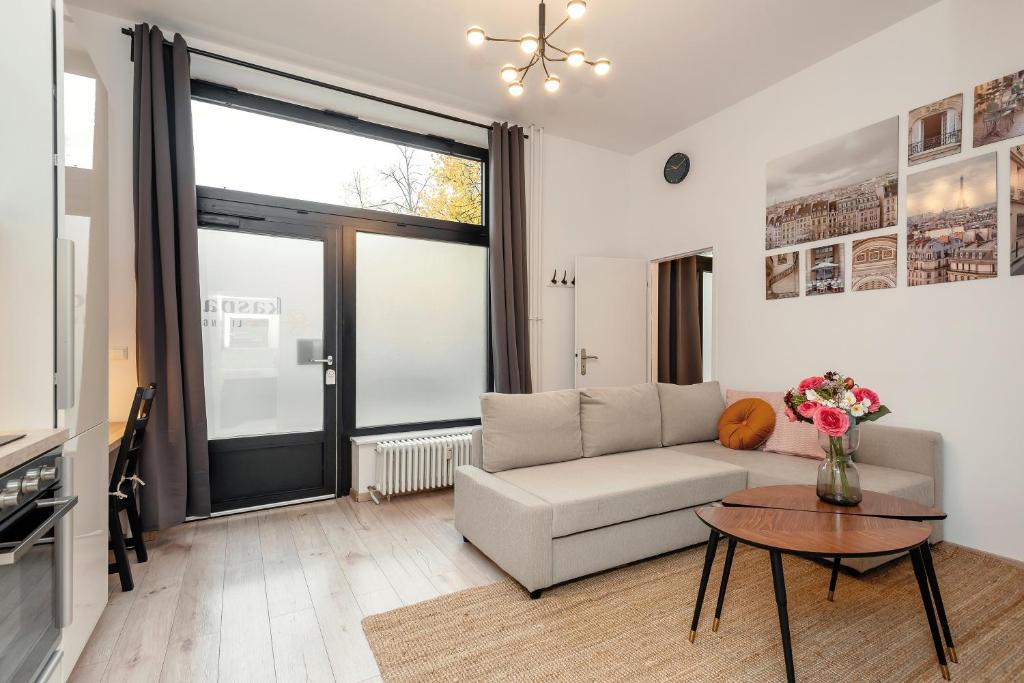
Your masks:
<path fill-rule="evenodd" d="M 211 439 L 478 420 L 486 151 L 193 85 Z"/>

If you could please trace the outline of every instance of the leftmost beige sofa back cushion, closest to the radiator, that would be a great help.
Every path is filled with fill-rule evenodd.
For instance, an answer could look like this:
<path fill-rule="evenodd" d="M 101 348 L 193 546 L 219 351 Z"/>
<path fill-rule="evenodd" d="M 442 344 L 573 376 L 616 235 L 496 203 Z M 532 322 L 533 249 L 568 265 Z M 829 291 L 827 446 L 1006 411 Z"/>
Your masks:
<path fill-rule="evenodd" d="M 480 396 L 483 469 L 503 472 L 583 458 L 580 392 Z"/>

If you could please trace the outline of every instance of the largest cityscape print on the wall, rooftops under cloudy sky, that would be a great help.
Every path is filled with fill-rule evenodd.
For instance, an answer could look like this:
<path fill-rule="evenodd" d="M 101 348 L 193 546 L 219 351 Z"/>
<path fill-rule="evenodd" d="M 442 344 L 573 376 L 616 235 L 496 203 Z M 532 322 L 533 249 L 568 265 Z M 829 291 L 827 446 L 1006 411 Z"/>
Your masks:
<path fill-rule="evenodd" d="M 769 163 L 765 248 L 895 225 L 898 169 L 898 117 Z"/>

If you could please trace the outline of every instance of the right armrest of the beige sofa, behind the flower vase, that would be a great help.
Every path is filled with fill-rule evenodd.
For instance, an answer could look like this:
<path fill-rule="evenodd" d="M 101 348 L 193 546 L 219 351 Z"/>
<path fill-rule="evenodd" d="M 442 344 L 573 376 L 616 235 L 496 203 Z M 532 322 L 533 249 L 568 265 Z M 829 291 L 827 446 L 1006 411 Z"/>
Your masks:
<path fill-rule="evenodd" d="M 860 427 L 860 447 L 854 460 L 932 477 L 935 482 L 932 505 L 942 509 L 942 434 L 866 423 Z"/>

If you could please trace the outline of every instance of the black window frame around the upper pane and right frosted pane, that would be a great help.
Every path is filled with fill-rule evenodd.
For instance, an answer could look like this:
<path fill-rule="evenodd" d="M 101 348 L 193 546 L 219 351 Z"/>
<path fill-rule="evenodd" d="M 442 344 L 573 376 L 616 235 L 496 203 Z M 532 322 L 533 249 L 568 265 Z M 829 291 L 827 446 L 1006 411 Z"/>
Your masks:
<path fill-rule="evenodd" d="M 342 439 L 390 432 L 417 431 L 475 426 L 479 418 L 465 418 L 418 423 L 355 427 L 355 234 L 359 231 L 391 234 L 412 239 L 466 244 L 489 249 L 489 153 L 464 142 L 416 133 L 364 121 L 337 112 L 316 110 L 293 102 L 244 92 L 229 86 L 193 79 L 193 99 L 254 114 L 270 116 L 305 125 L 317 126 L 386 142 L 452 155 L 478 161 L 481 164 L 481 223 L 460 223 L 437 218 L 361 209 L 340 204 L 327 204 L 286 197 L 261 195 L 239 189 L 197 186 L 197 217 L 203 228 L 239 229 L 259 232 L 259 223 L 273 221 L 293 225 L 328 227 L 337 230 L 335 254 L 339 265 L 334 285 L 339 288 L 337 301 L 336 338 L 338 344 L 339 378 L 336 401 L 338 436 L 338 492 L 347 493 L 350 485 L 349 459 L 343 458 Z M 489 269 L 489 261 L 488 261 Z M 330 284 L 329 284 L 330 285 Z M 486 296 L 486 386 L 494 387 L 492 354 L 492 310 L 489 291 Z"/>

